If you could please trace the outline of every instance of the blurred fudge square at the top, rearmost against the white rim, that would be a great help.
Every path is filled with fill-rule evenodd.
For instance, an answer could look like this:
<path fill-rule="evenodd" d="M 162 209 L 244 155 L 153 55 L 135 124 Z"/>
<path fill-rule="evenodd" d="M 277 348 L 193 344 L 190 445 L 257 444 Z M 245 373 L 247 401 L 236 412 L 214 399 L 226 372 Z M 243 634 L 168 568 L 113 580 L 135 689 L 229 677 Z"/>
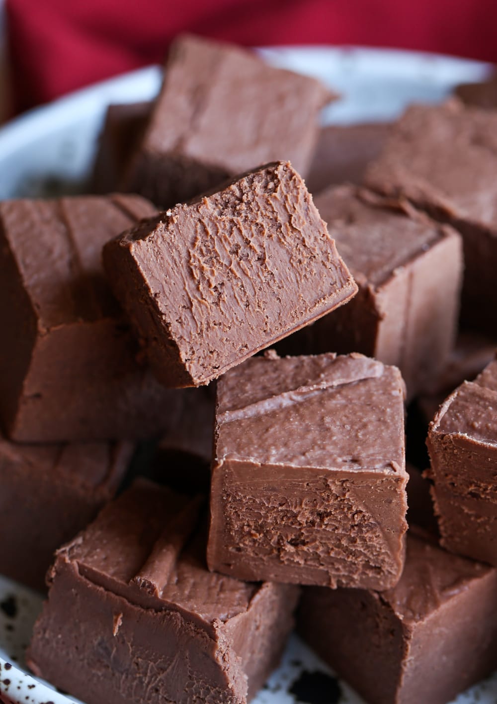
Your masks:
<path fill-rule="evenodd" d="M 180 37 L 125 187 L 168 208 L 270 161 L 291 161 L 306 175 L 331 98 L 314 78 L 245 49 Z"/>

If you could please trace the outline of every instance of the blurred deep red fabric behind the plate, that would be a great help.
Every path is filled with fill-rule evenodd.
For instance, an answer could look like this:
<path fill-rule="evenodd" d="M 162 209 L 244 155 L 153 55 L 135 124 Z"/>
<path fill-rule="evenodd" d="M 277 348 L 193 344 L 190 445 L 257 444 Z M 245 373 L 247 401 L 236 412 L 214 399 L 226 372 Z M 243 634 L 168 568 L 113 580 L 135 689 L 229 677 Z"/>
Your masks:
<path fill-rule="evenodd" d="M 247 46 L 365 44 L 497 62 L 496 0 L 6 0 L 17 111 L 163 60 L 182 30 Z"/>

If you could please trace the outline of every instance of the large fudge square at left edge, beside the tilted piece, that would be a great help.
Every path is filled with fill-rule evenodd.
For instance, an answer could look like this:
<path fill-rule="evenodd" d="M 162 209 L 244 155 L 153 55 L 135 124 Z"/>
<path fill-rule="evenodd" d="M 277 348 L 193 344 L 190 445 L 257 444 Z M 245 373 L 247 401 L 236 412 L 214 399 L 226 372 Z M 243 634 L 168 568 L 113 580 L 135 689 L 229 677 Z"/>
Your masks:
<path fill-rule="evenodd" d="M 155 212 L 140 196 L 0 203 L 0 420 L 11 439 L 167 429 L 175 395 L 139 359 L 101 267 L 103 244 Z"/>

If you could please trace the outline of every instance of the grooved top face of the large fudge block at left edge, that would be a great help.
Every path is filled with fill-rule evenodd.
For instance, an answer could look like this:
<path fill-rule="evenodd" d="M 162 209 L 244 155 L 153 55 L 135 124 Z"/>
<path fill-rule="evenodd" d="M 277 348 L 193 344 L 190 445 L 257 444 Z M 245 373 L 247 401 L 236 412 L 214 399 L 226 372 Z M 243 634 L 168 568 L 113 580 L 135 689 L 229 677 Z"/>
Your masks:
<path fill-rule="evenodd" d="M 103 277 L 102 247 L 155 212 L 140 196 L 118 194 L 0 203 L 3 237 L 39 329 L 115 313 Z"/>

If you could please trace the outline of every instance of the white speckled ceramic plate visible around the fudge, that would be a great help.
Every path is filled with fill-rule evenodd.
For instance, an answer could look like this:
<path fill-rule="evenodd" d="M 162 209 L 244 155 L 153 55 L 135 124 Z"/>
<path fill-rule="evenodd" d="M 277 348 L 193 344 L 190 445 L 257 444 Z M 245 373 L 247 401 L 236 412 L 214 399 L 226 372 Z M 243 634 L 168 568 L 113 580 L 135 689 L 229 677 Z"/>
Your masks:
<path fill-rule="evenodd" d="M 315 75 L 342 94 L 325 122 L 391 120 L 410 102 L 434 103 L 455 84 L 481 80 L 489 67 L 444 56 L 356 48 L 262 49 L 275 65 Z M 0 130 L 0 199 L 77 193 L 84 187 L 108 103 L 151 99 L 158 68 L 135 71 L 23 115 Z M 0 489 L 1 491 L 1 489 Z M 0 529 L 1 531 L 1 529 Z M 0 565 L 1 570 L 1 565 Z M 26 674 L 24 650 L 42 596 L 0 577 L 0 701 L 74 701 Z M 495 704 L 497 676 L 457 704 Z M 360 704 L 360 699 L 295 636 L 281 667 L 253 704 Z M 104 703 L 102 703 L 104 704 Z M 419 704 L 423 704 L 420 702 Z"/>

